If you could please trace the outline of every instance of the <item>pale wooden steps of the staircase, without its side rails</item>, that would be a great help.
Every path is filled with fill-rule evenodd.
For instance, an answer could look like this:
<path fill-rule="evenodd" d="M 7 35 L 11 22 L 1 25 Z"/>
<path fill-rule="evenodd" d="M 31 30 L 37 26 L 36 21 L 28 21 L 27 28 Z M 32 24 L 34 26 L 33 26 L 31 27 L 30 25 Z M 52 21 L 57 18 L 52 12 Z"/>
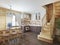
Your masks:
<path fill-rule="evenodd" d="M 45 24 L 40 35 L 38 35 L 38 39 L 49 43 L 52 42 L 53 39 L 51 37 L 50 23 Z"/>

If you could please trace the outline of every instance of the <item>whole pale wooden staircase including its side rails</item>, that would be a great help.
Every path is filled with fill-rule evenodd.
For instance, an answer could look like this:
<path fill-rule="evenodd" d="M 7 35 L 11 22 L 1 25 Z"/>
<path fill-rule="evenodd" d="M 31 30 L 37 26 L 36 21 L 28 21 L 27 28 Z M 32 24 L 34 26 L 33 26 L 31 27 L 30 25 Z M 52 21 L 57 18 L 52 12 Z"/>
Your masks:
<path fill-rule="evenodd" d="M 53 28 L 54 28 L 54 15 L 52 16 L 50 22 L 46 21 L 46 15 L 42 20 L 42 29 L 40 34 L 37 36 L 38 40 L 45 41 L 48 43 L 53 42 Z"/>

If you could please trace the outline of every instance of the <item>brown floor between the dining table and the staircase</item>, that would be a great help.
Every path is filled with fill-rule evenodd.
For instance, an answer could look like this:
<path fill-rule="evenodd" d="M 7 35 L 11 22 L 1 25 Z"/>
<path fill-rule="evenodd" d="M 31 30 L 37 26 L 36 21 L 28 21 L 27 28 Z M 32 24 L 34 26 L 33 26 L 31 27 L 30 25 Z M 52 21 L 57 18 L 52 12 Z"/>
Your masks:
<path fill-rule="evenodd" d="M 33 33 L 33 32 L 26 32 L 24 34 L 24 37 L 22 38 L 20 45 L 60 45 L 58 43 L 49 44 L 43 41 L 39 41 L 37 39 L 37 35 L 38 34 Z"/>

